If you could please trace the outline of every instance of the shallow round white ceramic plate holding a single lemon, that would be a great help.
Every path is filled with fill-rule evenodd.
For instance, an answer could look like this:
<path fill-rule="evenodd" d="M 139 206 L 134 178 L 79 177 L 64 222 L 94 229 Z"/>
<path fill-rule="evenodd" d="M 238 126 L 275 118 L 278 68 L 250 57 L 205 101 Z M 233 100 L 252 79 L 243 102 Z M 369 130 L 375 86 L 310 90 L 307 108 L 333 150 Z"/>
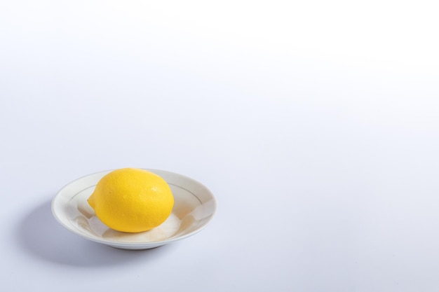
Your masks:
<path fill-rule="evenodd" d="M 175 242 L 205 228 L 215 215 L 217 204 L 210 190 L 186 176 L 157 169 L 174 195 L 174 208 L 169 218 L 158 227 L 145 232 L 126 233 L 108 228 L 95 215 L 87 199 L 97 181 L 111 172 L 98 172 L 72 181 L 52 201 L 53 216 L 65 228 L 86 239 L 119 249 L 152 249 Z"/>

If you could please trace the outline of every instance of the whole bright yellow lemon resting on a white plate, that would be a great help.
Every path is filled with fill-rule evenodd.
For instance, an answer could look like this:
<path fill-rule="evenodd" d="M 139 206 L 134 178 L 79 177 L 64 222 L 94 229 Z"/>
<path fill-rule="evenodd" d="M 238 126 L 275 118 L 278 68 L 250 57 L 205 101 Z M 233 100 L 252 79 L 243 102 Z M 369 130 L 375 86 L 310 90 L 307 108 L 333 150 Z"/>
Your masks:
<path fill-rule="evenodd" d="M 157 174 L 136 168 L 117 169 L 103 176 L 87 201 L 102 223 L 122 232 L 156 228 L 174 206 L 168 183 Z"/>

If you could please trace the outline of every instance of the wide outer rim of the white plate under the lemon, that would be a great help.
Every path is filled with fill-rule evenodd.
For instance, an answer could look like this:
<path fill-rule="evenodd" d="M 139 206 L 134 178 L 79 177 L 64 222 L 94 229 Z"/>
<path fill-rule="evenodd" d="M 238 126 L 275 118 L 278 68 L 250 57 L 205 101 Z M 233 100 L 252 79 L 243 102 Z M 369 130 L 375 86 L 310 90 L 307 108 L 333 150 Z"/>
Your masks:
<path fill-rule="evenodd" d="M 215 215 L 217 213 L 217 200 L 215 198 L 215 195 L 213 195 L 212 191 L 210 191 L 210 189 L 208 187 L 203 185 L 203 183 L 200 183 L 199 181 L 196 181 L 195 179 L 192 179 L 189 176 L 185 176 L 183 174 L 178 174 L 176 172 L 169 172 L 169 171 L 163 170 L 163 169 L 151 169 L 151 168 L 141 168 L 141 167 L 136 167 L 136 168 L 144 169 L 144 170 L 147 170 L 149 172 L 154 172 L 154 173 L 161 172 L 164 174 L 169 174 L 172 176 L 176 176 L 179 179 L 184 179 L 185 181 L 191 181 L 192 183 L 195 183 L 196 185 L 201 186 L 205 190 L 205 192 L 209 195 L 209 199 L 212 200 L 212 213 L 210 214 L 209 218 L 205 222 L 203 222 L 203 224 L 201 226 L 199 226 L 195 230 L 192 230 L 191 232 L 189 232 L 185 235 L 173 237 L 170 239 L 164 239 L 164 240 L 160 240 L 160 241 L 156 241 L 156 242 L 118 242 L 118 241 L 111 240 L 111 239 L 102 239 L 101 237 L 96 237 L 94 235 L 89 235 L 86 232 L 82 232 L 78 228 L 74 228 L 74 226 L 65 223 L 65 221 L 63 221 L 62 218 L 60 218 L 61 217 L 60 214 L 64 214 L 64 212 L 58 211 L 58 208 L 57 208 L 58 204 L 61 204 L 58 201 L 61 200 L 62 197 L 65 197 L 63 195 L 65 194 L 66 188 L 68 188 L 69 186 L 72 186 L 72 184 L 77 183 L 78 181 L 86 179 L 90 176 L 94 176 L 97 174 L 103 174 L 102 176 L 104 176 L 105 173 L 112 172 L 116 169 L 107 169 L 107 170 L 103 170 L 100 172 L 93 172 L 91 174 L 86 174 L 84 176 L 79 177 L 78 179 L 74 179 L 73 181 L 70 181 L 69 183 L 65 184 L 65 186 L 63 186 L 62 188 L 60 188 L 60 190 L 58 190 L 58 192 L 53 197 L 52 202 L 50 204 L 50 209 L 52 211 L 53 216 L 58 221 L 58 223 L 60 223 L 64 228 L 66 228 L 67 230 L 69 230 L 71 232 L 74 232 L 76 235 L 79 235 L 79 236 L 81 236 L 85 239 L 88 239 L 90 241 L 93 241 L 93 242 L 105 244 L 105 245 L 116 247 L 119 249 L 152 249 L 154 247 L 161 246 L 164 244 L 170 244 L 172 242 L 176 242 L 176 241 L 179 241 L 181 239 L 185 239 L 187 237 L 191 237 L 192 235 L 195 235 L 196 233 L 203 230 L 207 225 L 209 225 L 209 223 L 215 217 Z M 165 179 L 165 178 L 163 178 L 163 179 Z M 166 179 L 165 179 L 165 181 L 166 181 Z M 169 181 L 166 181 L 166 182 L 170 183 Z M 172 183 L 172 184 L 175 185 L 175 183 Z M 192 193 L 192 194 L 195 195 L 195 197 L 198 200 L 200 200 L 200 198 L 196 194 L 194 194 L 194 193 Z M 77 194 L 69 195 L 68 198 L 72 199 L 75 195 L 77 195 Z M 203 202 L 201 202 L 201 204 L 203 204 Z M 62 205 L 62 207 L 65 207 L 65 205 Z"/>

